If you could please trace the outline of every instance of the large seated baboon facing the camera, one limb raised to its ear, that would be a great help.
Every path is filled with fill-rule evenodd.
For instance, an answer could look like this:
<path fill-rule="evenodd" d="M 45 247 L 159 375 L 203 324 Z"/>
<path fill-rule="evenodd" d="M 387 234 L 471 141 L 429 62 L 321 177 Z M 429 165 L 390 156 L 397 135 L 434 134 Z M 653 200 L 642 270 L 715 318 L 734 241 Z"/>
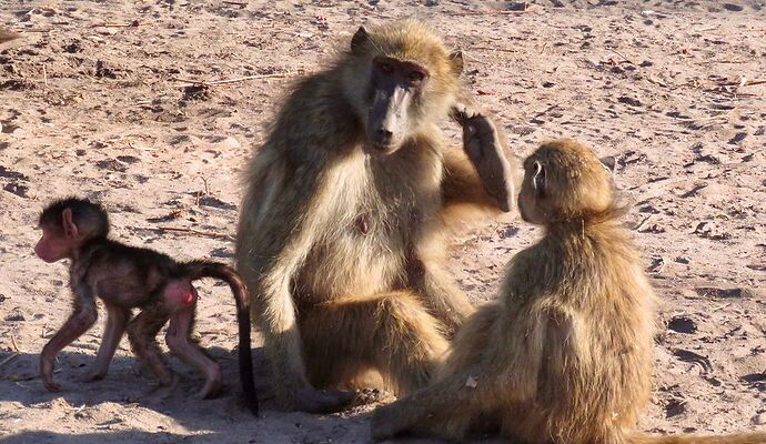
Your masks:
<path fill-rule="evenodd" d="M 335 389 L 370 370 L 422 386 L 473 312 L 444 270 L 444 214 L 508 211 L 513 183 L 497 128 L 458 102 L 462 67 L 422 23 L 360 28 L 250 163 L 235 255 L 283 408 L 343 408 Z M 461 155 L 436 127 L 450 112 Z"/>

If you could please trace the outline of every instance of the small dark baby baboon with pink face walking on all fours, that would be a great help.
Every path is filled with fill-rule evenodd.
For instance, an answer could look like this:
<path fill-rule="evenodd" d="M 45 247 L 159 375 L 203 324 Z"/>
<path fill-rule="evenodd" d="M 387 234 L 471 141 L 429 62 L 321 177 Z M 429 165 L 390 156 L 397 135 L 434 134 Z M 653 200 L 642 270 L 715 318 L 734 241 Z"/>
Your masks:
<path fill-rule="evenodd" d="M 56 355 L 87 332 L 98 317 L 95 297 L 107 307 L 107 326 L 93 367 L 85 381 L 104 377 L 122 335 L 128 332 L 133 352 L 165 387 L 177 377 L 160 357 L 154 336 L 170 321 L 165 341 L 170 351 L 205 375 L 200 397 L 212 397 L 221 387 L 221 367 L 190 333 L 194 323 L 196 290 L 192 281 L 215 278 L 234 293 L 240 331 L 240 376 L 248 407 L 258 414 L 250 349 L 246 289 L 231 266 L 209 261 L 177 262 L 149 249 L 128 246 L 108 238 L 109 216 L 103 208 L 85 199 L 59 200 L 40 214 L 42 236 L 34 253 L 46 262 L 69 259 L 74 310 L 40 353 L 40 379 L 51 392 Z M 132 309 L 141 312 L 131 320 Z"/>

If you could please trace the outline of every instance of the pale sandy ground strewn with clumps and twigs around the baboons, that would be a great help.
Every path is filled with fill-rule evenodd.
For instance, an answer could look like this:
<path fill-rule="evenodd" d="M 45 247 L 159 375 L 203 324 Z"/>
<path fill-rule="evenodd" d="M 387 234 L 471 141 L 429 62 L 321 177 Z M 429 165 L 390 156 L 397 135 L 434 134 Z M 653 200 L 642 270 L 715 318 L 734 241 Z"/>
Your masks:
<path fill-rule="evenodd" d="M 185 396 L 201 380 L 172 361 L 177 395 L 141 401 L 152 380 L 125 341 L 104 381 L 79 382 L 100 325 L 60 354 L 63 391 L 46 392 L 39 352 L 70 295 L 65 264 L 31 248 L 42 205 L 80 194 L 109 206 L 124 241 L 231 261 L 239 178 L 285 88 L 360 24 L 403 17 L 464 50 L 468 88 L 520 158 L 553 137 L 617 158 L 662 299 L 641 427 L 766 430 L 766 3 L 595 3 L 0 0 L 0 26 L 22 33 L 0 47 L 0 442 L 369 441 L 370 407 L 312 416 L 266 401 L 259 421 L 243 411 L 234 307 L 212 283 L 198 333 L 224 365 L 220 398 Z M 282 75 L 182 89 L 258 74 Z M 456 128 L 445 130 L 457 144 Z M 503 265 L 538 234 L 512 220 L 466 232 L 451 270 L 476 303 L 490 300 Z"/>

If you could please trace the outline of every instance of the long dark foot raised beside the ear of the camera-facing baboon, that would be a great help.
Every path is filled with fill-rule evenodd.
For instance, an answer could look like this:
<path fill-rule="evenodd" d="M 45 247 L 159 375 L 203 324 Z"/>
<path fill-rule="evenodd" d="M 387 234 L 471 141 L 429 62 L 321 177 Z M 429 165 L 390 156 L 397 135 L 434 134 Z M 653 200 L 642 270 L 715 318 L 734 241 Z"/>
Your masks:
<path fill-rule="evenodd" d="M 511 211 L 511 163 L 503 152 L 495 123 L 487 115 L 462 103 L 453 107 L 452 117 L 463 127 L 463 150 L 476 168 L 484 189 L 497 201 L 501 210 Z"/>

